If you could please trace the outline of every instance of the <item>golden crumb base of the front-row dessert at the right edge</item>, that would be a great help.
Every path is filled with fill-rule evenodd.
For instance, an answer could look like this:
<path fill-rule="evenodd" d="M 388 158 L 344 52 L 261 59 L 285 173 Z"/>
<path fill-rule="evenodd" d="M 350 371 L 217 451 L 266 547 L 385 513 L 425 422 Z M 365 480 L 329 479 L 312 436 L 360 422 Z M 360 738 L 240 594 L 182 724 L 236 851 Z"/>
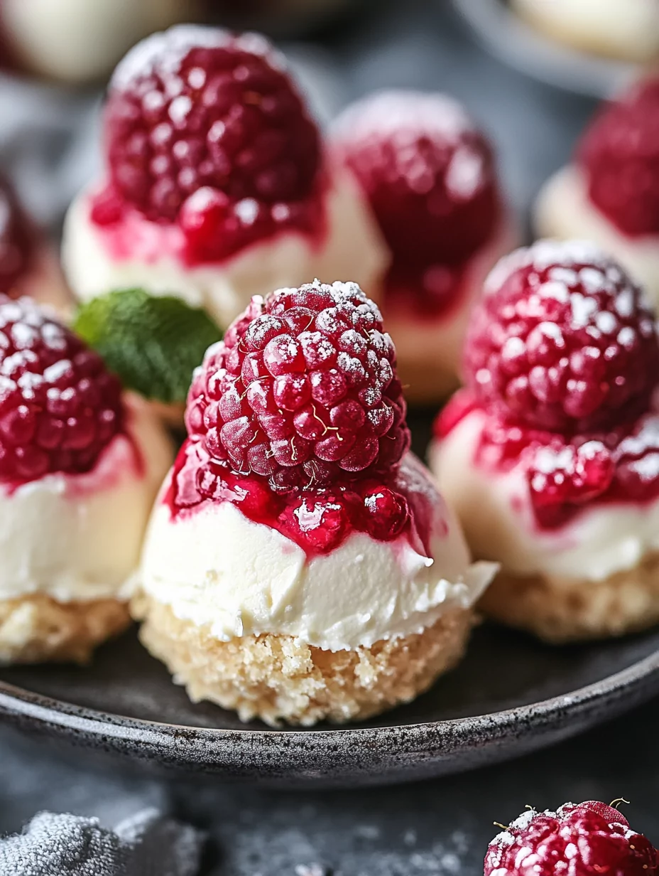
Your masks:
<path fill-rule="evenodd" d="M 659 623 L 659 554 L 604 581 L 500 573 L 479 608 L 555 644 L 637 632 Z"/>

